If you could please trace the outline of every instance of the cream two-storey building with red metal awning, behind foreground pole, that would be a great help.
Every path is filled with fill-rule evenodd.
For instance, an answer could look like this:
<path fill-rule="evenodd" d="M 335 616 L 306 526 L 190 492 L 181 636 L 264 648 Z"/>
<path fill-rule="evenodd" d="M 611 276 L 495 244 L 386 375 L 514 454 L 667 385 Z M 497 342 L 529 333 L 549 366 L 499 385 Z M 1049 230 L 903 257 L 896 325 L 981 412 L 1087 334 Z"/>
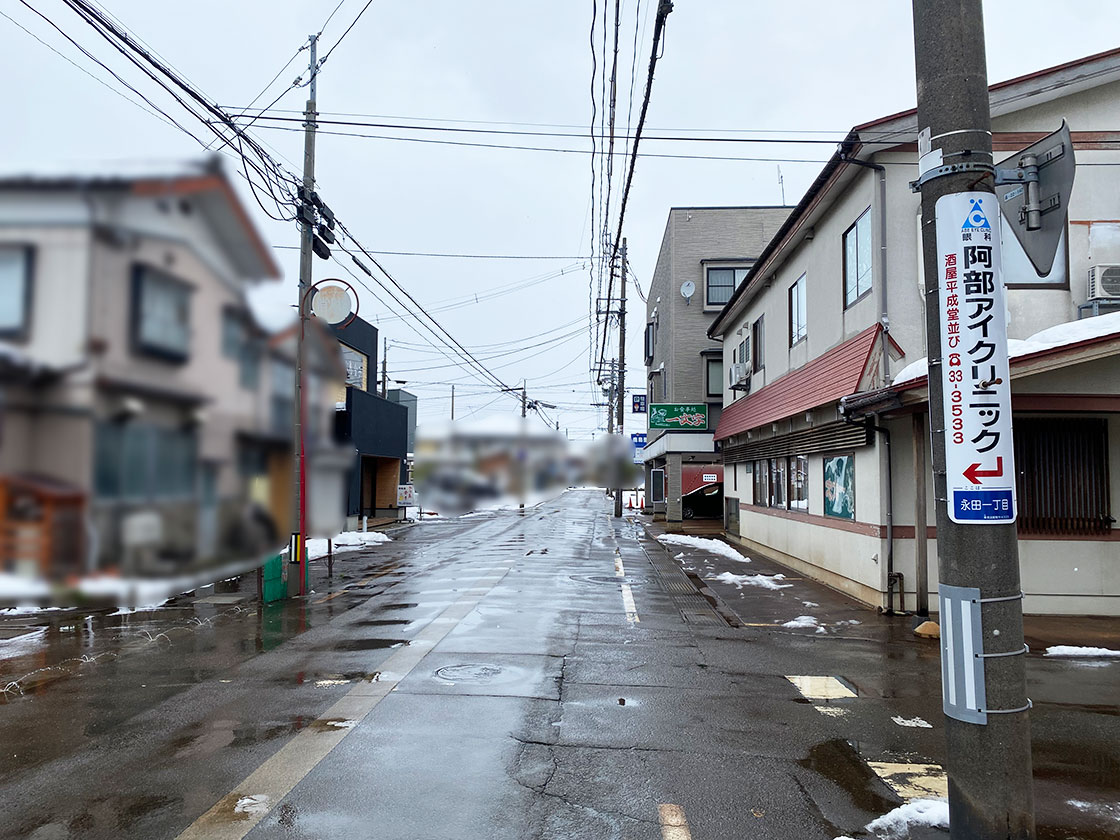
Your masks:
<path fill-rule="evenodd" d="M 1048 273 L 1002 223 L 1025 608 L 1117 615 L 1120 50 L 992 85 L 991 113 L 997 160 L 1063 119 L 1077 160 Z M 708 330 L 731 370 L 728 535 L 908 608 L 937 581 L 917 130 L 852 129 Z"/>

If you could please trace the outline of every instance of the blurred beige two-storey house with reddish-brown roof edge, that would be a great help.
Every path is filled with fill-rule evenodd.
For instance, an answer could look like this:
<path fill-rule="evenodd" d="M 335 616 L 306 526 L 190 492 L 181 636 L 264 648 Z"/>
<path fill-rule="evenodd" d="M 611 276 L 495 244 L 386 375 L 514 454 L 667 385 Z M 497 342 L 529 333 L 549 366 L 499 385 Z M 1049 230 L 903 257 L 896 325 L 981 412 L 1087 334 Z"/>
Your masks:
<path fill-rule="evenodd" d="M 9 566 L 217 560 L 268 519 L 252 495 L 282 544 L 292 367 L 245 301 L 278 276 L 216 165 L 0 179 L 0 526 L 32 534 L 44 494 L 78 500 L 53 547 L 0 542 Z M 311 388 L 325 435 L 334 389 Z"/>

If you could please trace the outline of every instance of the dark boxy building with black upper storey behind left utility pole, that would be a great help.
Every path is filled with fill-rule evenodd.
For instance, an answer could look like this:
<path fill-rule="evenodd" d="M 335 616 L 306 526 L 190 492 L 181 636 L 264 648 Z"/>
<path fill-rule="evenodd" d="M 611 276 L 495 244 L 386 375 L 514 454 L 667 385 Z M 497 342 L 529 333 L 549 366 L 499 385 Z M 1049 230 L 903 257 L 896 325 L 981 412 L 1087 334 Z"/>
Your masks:
<path fill-rule="evenodd" d="M 333 330 L 346 364 L 346 384 L 337 394 L 336 433 L 357 449 L 349 473 L 347 525 L 356 530 L 373 522 L 404 519 L 404 507 L 396 504 L 396 488 L 408 483 L 416 398 L 403 391 L 396 392 L 398 400 L 377 393 L 376 327 L 355 317 Z"/>

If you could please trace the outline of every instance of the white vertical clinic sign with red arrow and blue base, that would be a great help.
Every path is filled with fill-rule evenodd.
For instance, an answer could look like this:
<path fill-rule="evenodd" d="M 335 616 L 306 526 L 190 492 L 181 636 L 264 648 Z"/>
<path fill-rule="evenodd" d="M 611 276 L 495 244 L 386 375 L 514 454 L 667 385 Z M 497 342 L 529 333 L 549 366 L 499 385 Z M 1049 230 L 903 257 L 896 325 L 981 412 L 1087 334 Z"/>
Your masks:
<path fill-rule="evenodd" d="M 955 193 L 937 199 L 936 217 L 949 517 L 1015 522 L 999 203 L 991 193 Z"/>

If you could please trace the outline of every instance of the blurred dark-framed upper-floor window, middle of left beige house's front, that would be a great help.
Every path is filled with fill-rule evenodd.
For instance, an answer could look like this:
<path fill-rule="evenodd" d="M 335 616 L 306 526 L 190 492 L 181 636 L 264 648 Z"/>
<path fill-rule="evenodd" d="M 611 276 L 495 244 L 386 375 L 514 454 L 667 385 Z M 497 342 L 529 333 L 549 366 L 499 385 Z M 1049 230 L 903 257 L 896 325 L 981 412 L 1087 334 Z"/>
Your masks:
<path fill-rule="evenodd" d="M 190 287 L 148 265 L 132 272 L 132 345 L 184 362 L 190 353 Z"/>

